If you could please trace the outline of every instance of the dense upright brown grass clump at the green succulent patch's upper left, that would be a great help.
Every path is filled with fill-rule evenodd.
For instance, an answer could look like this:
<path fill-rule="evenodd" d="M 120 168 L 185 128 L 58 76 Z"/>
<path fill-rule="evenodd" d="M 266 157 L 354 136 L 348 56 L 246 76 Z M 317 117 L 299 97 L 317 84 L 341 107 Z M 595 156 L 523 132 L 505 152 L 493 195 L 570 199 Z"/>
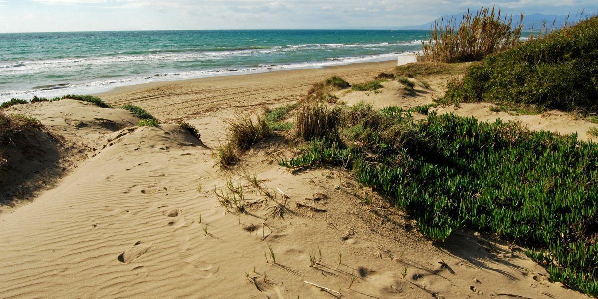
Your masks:
<path fill-rule="evenodd" d="M 295 119 L 295 136 L 303 139 L 334 139 L 338 133 L 340 109 L 325 102 L 303 102 Z"/>

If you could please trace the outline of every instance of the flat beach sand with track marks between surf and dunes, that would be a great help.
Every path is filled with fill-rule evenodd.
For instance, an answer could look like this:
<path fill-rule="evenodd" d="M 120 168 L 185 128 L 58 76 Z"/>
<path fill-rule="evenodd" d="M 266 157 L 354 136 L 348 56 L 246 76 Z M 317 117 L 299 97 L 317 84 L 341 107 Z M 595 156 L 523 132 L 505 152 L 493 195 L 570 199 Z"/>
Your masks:
<path fill-rule="evenodd" d="M 131 103 L 147 109 L 161 120 L 180 120 L 228 109 L 254 109 L 258 106 L 291 102 L 304 96 L 316 81 L 333 75 L 349 83 L 373 80 L 380 72 L 392 72 L 396 60 L 352 63 L 325 68 L 291 69 L 229 76 L 160 81 L 94 95 L 114 106 Z"/>

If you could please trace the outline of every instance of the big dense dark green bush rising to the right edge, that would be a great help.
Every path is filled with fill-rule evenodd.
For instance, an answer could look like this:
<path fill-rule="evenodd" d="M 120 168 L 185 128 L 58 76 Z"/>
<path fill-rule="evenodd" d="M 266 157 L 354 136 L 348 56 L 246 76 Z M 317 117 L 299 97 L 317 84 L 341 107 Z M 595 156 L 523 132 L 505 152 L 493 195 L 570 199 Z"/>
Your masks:
<path fill-rule="evenodd" d="M 597 112 L 598 17 L 486 57 L 444 100 Z"/>

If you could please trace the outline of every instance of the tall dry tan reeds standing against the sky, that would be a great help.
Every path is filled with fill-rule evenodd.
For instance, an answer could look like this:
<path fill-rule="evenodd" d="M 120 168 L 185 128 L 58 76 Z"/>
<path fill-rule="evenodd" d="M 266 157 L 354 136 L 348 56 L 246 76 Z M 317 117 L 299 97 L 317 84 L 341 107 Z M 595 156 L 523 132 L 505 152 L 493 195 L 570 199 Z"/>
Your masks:
<path fill-rule="evenodd" d="M 502 17 L 501 10 L 481 8 L 476 14 L 463 14 L 459 27 L 453 18 L 436 20 L 428 41 L 422 41 L 422 51 L 428 62 L 468 62 L 482 60 L 489 54 L 520 44 L 520 25 L 512 29 L 512 17 Z"/>

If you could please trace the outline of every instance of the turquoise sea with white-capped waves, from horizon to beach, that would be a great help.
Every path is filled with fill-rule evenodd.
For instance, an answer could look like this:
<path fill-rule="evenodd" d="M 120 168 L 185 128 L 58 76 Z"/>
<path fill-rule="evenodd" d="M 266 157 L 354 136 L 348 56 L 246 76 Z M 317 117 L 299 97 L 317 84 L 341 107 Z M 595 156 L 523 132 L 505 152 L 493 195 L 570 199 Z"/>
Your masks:
<path fill-rule="evenodd" d="M 405 30 L 202 30 L 0 34 L 0 102 L 157 80 L 396 59 Z"/>

